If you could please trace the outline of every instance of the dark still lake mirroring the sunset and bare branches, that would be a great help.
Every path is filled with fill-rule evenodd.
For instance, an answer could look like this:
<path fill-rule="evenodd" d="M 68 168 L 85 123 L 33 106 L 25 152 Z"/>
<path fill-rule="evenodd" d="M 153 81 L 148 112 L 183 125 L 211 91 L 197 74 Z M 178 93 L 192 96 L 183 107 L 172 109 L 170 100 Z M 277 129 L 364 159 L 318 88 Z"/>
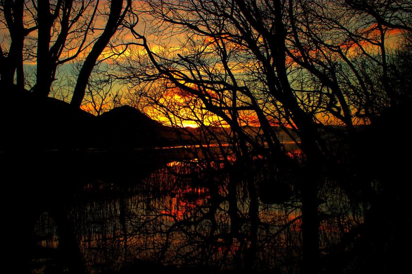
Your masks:
<path fill-rule="evenodd" d="M 5 205 L 20 235 L 10 243 L 14 259 L 32 273 L 299 273 L 301 200 L 293 174 L 278 176 L 259 161 L 242 170 L 183 151 L 8 159 L 22 166 L 9 168 L 14 200 Z M 283 192 L 284 200 L 267 202 Z M 327 254 L 363 222 L 367 205 L 351 202 L 327 179 L 319 198 L 319 242 Z"/>

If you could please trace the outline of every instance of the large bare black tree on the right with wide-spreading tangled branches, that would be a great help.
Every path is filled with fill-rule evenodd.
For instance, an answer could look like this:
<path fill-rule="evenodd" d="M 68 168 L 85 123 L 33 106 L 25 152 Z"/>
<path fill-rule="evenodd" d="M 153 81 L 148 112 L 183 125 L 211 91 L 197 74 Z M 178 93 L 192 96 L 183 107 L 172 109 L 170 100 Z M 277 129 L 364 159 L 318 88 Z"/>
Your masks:
<path fill-rule="evenodd" d="M 218 116 L 233 131 L 238 160 L 262 153 L 277 164 L 294 166 L 273 126 L 297 134 L 298 139 L 290 138 L 298 140 L 306 166 L 299 186 L 304 270 L 316 272 L 317 185 L 336 160 L 335 147 L 321 132 L 340 139 L 345 134 L 328 124 L 344 126 L 350 135 L 357 125 L 396 105 L 387 39 L 393 30 L 409 31 L 408 3 L 393 1 L 396 15 L 378 5 L 380 15 L 370 20 L 364 9 L 344 0 L 146 2 L 151 29 L 146 35 L 132 30 L 141 41 L 133 46 L 145 48 L 146 55 L 136 51 L 119 62 L 124 79 L 135 86 L 157 81 L 151 94 L 158 94 L 159 86 L 166 86 L 165 94 L 177 89 L 187 104 L 180 109 L 198 105 Z M 173 45 L 154 48 L 151 35 L 171 39 Z M 152 102 L 163 107 L 154 98 L 162 97 Z M 244 127 L 245 116 L 255 117 L 259 138 Z"/>

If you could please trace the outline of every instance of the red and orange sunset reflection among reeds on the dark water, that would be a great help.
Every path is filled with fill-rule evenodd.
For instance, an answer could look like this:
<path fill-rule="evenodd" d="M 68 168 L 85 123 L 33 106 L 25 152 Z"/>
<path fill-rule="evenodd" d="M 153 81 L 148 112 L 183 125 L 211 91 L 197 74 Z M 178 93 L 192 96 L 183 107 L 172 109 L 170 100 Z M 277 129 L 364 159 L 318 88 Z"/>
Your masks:
<path fill-rule="evenodd" d="M 287 201 L 264 204 L 257 193 L 269 179 L 267 169 L 246 175 L 223 163 L 173 161 L 127 187 L 87 183 L 66 211 L 87 272 L 127 273 L 151 262 L 216 272 L 298 273 L 301 201 L 290 183 Z M 327 254 L 363 222 L 367 205 L 352 203 L 331 180 L 319 189 L 320 248 Z M 59 246 L 58 228 L 43 213 L 35 227 L 38 244 Z"/>

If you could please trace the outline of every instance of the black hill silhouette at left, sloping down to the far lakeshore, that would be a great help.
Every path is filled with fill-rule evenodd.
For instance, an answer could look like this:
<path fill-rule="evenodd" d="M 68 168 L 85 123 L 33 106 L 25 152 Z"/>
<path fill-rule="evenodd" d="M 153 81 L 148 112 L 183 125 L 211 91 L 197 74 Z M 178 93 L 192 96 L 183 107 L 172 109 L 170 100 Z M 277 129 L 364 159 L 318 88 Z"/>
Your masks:
<path fill-rule="evenodd" d="M 136 148 L 181 143 L 174 129 L 130 106 L 94 116 L 27 90 L 3 93 L 0 151 Z"/>

